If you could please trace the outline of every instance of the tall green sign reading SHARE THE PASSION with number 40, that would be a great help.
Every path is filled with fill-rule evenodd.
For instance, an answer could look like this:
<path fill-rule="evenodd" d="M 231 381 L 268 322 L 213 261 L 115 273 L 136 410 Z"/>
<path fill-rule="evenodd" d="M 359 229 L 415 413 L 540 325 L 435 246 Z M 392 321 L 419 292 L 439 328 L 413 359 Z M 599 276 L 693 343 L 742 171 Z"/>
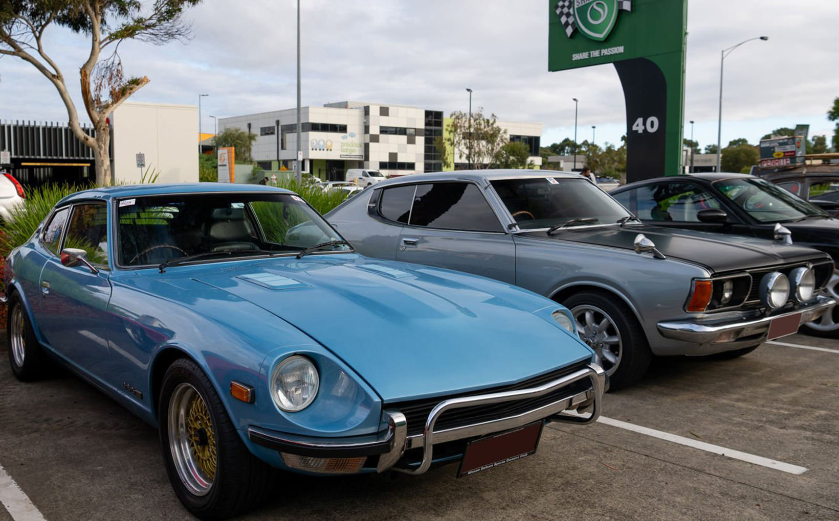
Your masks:
<path fill-rule="evenodd" d="M 687 1 L 549 0 L 548 5 L 548 70 L 599 64 L 618 70 L 627 111 L 628 181 L 680 173 Z M 572 103 L 567 101 L 569 111 Z M 600 102 L 581 98 L 579 104 Z"/>

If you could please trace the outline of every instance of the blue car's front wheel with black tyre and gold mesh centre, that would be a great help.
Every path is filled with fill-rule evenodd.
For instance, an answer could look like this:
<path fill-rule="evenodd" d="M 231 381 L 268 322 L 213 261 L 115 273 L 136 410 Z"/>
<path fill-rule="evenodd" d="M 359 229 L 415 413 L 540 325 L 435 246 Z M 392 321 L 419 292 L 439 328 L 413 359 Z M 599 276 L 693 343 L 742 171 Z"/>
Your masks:
<path fill-rule="evenodd" d="M 158 407 L 160 446 L 180 502 L 201 519 L 253 508 L 273 471 L 248 451 L 206 374 L 190 359 L 169 366 Z"/>

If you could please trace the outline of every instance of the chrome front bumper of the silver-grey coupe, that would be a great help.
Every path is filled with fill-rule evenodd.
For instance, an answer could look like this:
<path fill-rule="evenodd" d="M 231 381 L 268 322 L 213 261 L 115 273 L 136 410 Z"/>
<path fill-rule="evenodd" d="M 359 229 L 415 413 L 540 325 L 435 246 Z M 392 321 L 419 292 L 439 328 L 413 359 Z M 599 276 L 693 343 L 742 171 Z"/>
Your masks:
<path fill-rule="evenodd" d="M 659 333 L 664 338 L 680 340 L 682 342 L 709 344 L 709 343 L 732 343 L 746 337 L 766 334 L 769 332 L 769 322 L 774 318 L 789 317 L 801 313 L 801 323 L 815 320 L 821 313 L 836 306 L 836 301 L 830 297 L 820 295 L 811 302 L 800 304 L 793 310 L 779 312 L 778 314 L 740 319 L 724 320 L 679 320 L 672 322 L 659 322 Z M 721 339 L 724 338 L 724 339 Z"/>

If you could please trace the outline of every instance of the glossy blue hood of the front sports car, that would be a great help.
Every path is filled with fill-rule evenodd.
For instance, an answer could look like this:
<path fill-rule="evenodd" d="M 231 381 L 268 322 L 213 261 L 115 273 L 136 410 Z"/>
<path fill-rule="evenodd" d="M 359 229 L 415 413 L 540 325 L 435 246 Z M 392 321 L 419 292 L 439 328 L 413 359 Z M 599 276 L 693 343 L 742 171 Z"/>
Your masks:
<path fill-rule="evenodd" d="M 544 297 L 455 271 L 343 254 L 208 265 L 191 278 L 294 324 L 385 402 L 511 383 L 591 357 L 550 313 L 534 313 L 551 305 Z"/>

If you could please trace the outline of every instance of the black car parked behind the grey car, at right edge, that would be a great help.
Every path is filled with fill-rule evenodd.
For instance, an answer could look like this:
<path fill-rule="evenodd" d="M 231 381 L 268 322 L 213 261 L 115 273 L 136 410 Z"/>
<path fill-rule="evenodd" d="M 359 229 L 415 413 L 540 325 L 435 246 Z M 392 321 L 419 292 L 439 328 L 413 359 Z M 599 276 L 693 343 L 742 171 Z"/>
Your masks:
<path fill-rule="evenodd" d="M 796 245 L 839 259 L 839 220 L 763 178 L 694 173 L 630 183 L 612 197 L 644 222 L 668 228 L 773 239 L 781 224 Z M 839 272 L 826 281 L 826 291 L 839 301 Z M 839 338 L 839 308 L 805 322 L 802 330 Z"/>

